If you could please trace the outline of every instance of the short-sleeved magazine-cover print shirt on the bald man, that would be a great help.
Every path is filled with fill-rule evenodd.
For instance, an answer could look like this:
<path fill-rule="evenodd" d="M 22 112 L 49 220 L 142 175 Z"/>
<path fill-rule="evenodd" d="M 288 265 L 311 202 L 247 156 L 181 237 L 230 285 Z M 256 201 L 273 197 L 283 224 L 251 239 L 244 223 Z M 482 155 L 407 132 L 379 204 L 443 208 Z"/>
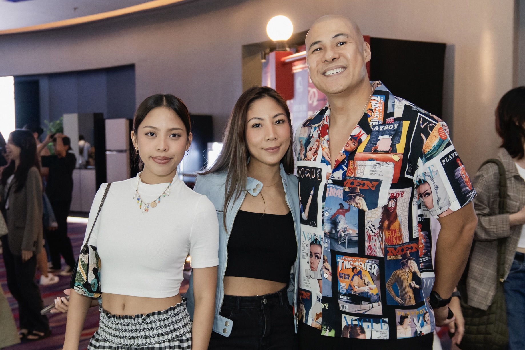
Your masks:
<path fill-rule="evenodd" d="M 373 88 L 333 170 L 329 106 L 296 133 L 299 321 L 330 337 L 412 338 L 434 331 L 430 215 L 476 192 L 445 122 Z"/>

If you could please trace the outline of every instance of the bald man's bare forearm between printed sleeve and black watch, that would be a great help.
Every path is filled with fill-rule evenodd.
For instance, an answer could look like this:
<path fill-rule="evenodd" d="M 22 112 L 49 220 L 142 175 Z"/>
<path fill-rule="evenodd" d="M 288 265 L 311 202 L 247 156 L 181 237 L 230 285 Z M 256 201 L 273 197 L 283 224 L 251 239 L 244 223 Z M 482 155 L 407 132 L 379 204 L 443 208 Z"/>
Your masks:
<path fill-rule="evenodd" d="M 450 297 L 465 270 L 477 225 L 471 204 L 445 218 L 450 215 L 453 218 L 440 220 L 434 266 L 436 279 L 433 289 L 444 299 Z"/>

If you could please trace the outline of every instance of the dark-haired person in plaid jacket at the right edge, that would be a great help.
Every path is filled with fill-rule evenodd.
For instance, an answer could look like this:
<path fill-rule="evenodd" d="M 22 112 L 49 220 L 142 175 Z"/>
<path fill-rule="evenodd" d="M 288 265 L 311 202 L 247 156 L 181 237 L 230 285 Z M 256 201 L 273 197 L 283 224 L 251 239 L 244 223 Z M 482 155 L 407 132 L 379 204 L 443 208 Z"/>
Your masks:
<path fill-rule="evenodd" d="M 478 226 L 467 277 L 468 304 L 487 310 L 498 283 L 498 239 L 506 238 L 505 282 L 509 350 L 525 349 L 525 86 L 508 91 L 496 108 L 502 139 L 498 159 L 507 177 L 507 213 L 499 214 L 499 170 L 479 169 L 474 184 Z"/>

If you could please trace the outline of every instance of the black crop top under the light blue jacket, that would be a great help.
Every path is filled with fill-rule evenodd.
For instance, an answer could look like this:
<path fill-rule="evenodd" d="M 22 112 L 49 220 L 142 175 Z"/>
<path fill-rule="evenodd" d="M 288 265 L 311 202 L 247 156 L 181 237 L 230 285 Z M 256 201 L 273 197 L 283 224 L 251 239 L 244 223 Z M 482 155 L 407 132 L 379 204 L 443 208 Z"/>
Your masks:
<path fill-rule="evenodd" d="M 297 258 L 292 213 L 261 214 L 239 210 L 228 239 L 225 276 L 288 283 Z"/>

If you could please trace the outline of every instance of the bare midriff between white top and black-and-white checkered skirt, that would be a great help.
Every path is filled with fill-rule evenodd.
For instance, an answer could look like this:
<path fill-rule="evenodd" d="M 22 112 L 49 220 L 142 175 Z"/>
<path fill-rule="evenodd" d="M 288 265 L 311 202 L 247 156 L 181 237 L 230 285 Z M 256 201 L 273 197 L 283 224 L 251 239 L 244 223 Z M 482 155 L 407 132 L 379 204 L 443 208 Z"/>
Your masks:
<path fill-rule="evenodd" d="M 145 315 L 163 311 L 182 301 L 181 294 L 167 298 L 147 298 L 121 294 L 102 293 L 102 308 L 112 315 Z"/>

